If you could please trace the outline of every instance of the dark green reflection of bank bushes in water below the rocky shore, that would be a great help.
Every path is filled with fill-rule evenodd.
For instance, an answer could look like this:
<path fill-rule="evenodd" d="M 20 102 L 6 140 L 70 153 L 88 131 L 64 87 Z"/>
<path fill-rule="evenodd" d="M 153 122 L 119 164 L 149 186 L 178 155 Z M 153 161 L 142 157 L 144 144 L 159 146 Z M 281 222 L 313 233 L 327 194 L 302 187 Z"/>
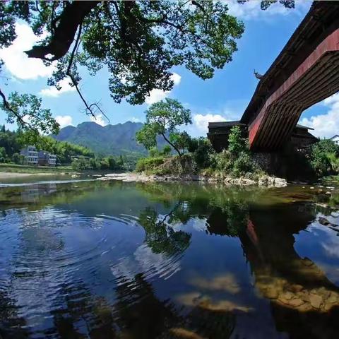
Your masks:
<path fill-rule="evenodd" d="M 225 189 L 225 186 L 199 186 L 184 184 L 141 184 L 139 189 L 153 200 L 170 209 L 167 222 L 186 225 L 191 218 L 206 220 L 210 234 L 237 237 L 246 228 L 249 203 L 262 194 L 246 189 Z M 172 209 L 171 209 L 172 207 Z"/>

